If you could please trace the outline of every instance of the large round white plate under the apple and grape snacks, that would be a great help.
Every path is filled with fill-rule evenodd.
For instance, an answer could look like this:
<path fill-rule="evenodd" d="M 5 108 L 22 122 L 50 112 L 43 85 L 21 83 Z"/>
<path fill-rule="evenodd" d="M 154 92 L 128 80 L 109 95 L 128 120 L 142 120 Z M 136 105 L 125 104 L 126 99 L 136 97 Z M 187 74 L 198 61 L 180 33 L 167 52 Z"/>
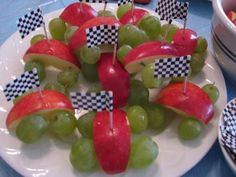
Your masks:
<path fill-rule="evenodd" d="M 96 9 L 102 9 L 103 5 L 93 4 Z M 107 9 L 115 11 L 117 7 L 108 4 Z M 45 16 L 45 21 L 57 17 L 59 11 Z M 154 14 L 154 12 L 150 12 Z M 43 138 L 33 145 L 22 144 L 5 126 L 5 119 L 12 107 L 2 93 L 2 88 L 12 78 L 23 72 L 22 56 L 29 47 L 30 38 L 36 33 L 42 33 L 38 29 L 23 41 L 18 32 L 14 33 L 0 49 L 0 155 L 6 162 L 23 176 L 104 176 L 102 171 L 96 173 L 79 173 L 73 170 L 69 162 L 70 145 L 52 138 Z M 208 126 L 204 127 L 201 136 L 190 142 L 184 142 L 178 138 L 175 120 L 159 135 L 153 135 L 153 139 L 159 145 L 159 156 L 148 168 L 143 170 L 128 170 L 125 174 L 117 176 L 180 176 L 196 165 L 208 152 L 217 137 L 217 125 L 220 112 L 226 104 L 226 88 L 223 75 L 215 60 L 209 54 L 203 72 L 191 81 L 202 86 L 215 82 L 220 90 L 220 98 L 217 101 L 215 115 Z"/>

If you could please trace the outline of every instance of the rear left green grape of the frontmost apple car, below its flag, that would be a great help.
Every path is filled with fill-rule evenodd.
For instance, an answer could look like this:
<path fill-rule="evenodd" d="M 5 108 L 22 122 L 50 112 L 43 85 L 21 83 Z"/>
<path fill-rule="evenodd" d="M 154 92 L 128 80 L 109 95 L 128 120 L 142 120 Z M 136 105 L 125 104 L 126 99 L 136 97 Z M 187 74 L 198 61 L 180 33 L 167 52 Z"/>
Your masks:
<path fill-rule="evenodd" d="M 77 121 L 80 134 L 85 138 L 93 138 L 93 119 L 95 112 L 91 111 L 82 115 Z"/>

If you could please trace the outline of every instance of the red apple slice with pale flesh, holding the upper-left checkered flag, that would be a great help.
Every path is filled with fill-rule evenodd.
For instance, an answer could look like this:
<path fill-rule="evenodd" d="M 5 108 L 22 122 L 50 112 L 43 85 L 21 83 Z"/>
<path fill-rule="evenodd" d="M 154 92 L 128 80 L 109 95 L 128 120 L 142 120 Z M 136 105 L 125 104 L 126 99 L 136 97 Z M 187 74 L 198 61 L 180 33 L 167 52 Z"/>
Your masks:
<path fill-rule="evenodd" d="M 71 67 L 79 71 L 80 68 L 69 47 L 55 39 L 44 39 L 31 45 L 24 55 L 25 62 L 30 60 L 38 60 L 62 70 Z"/>

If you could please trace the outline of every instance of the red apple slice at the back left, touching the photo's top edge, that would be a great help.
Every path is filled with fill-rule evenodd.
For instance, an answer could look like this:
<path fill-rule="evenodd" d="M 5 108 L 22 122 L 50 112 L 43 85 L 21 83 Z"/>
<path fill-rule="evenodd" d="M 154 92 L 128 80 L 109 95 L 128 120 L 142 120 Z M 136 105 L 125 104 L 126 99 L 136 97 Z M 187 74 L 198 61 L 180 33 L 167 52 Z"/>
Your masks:
<path fill-rule="evenodd" d="M 60 18 L 73 26 L 80 27 L 86 21 L 97 16 L 97 11 L 90 5 L 83 2 L 75 2 L 67 6 L 60 15 Z"/>

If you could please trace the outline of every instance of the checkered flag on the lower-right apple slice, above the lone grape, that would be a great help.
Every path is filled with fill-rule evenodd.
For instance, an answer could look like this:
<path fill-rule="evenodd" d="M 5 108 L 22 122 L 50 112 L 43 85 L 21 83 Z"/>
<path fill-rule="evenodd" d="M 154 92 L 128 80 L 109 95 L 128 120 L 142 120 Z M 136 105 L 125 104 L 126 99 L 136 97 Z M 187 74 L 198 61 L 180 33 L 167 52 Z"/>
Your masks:
<path fill-rule="evenodd" d="M 187 77 L 191 56 L 163 58 L 155 60 L 154 77 Z"/>

